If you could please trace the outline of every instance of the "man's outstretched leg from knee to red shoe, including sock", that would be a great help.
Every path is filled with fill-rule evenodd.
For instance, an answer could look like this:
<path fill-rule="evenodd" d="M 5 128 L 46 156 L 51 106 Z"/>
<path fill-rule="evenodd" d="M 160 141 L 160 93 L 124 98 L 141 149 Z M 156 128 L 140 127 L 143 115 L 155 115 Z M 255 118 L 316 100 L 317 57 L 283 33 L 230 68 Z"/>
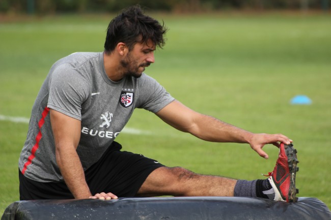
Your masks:
<path fill-rule="evenodd" d="M 251 181 L 199 175 L 181 167 L 160 167 L 147 177 L 137 196 L 240 196 L 296 202 L 296 152 L 293 144 L 281 143 L 279 158 L 269 178 Z"/>

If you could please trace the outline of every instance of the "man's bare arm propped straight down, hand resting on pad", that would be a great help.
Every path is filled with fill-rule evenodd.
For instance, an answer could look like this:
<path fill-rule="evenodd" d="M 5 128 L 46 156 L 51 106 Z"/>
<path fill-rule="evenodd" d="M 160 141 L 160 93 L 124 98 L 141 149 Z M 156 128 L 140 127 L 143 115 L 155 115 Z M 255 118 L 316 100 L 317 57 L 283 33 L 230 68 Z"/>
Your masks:
<path fill-rule="evenodd" d="M 73 196 L 76 199 L 117 199 L 117 196 L 111 193 L 91 195 L 76 152 L 80 138 L 80 120 L 51 109 L 50 122 L 56 146 L 57 163 Z"/>

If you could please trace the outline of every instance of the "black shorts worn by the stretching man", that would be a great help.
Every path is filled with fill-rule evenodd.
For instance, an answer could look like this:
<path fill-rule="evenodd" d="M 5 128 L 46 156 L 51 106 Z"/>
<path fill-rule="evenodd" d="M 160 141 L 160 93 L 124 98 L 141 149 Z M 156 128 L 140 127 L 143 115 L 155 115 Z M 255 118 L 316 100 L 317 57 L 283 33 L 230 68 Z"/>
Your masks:
<path fill-rule="evenodd" d="M 101 159 L 85 171 L 92 195 L 113 193 L 118 197 L 134 197 L 148 175 L 164 165 L 142 154 L 120 151 L 122 146 L 113 142 Z M 64 181 L 38 182 L 19 171 L 20 200 L 73 199 Z"/>

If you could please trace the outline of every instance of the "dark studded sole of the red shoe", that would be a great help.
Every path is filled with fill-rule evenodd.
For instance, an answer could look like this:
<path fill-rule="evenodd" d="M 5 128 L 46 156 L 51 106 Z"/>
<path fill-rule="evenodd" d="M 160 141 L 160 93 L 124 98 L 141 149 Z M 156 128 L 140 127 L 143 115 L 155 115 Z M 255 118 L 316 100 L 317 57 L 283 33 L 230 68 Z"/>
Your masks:
<path fill-rule="evenodd" d="M 284 149 L 290 171 L 290 188 L 288 192 L 288 200 L 289 202 L 297 202 L 298 198 L 296 197 L 296 194 L 299 193 L 299 190 L 295 187 L 295 176 L 296 172 L 299 171 L 299 168 L 297 167 L 297 164 L 299 163 L 296 157 L 297 151 L 294 149 L 293 144 L 284 144 Z"/>

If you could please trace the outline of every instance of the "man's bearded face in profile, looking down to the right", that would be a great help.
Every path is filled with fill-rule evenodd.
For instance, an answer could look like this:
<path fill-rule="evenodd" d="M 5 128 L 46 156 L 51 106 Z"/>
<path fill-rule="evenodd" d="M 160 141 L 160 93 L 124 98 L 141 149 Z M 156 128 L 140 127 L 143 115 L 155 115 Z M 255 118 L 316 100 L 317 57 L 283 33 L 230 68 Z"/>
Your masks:
<path fill-rule="evenodd" d="M 155 46 L 152 41 L 145 43 L 136 43 L 131 51 L 121 60 L 121 65 L 125 69 L 125 76 L 139 78 L 142 76 L 146 67 L 152 64 L 154 60 Z"/>

